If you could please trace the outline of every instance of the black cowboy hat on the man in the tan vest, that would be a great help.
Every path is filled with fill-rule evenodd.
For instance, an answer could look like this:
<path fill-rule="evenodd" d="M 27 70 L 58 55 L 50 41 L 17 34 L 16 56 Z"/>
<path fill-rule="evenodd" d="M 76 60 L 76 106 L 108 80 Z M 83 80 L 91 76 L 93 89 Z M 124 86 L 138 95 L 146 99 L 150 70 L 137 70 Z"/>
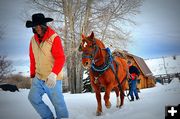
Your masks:
<path fill-rule="evenodd" d="M 45 18 L 44 14 L 36 13 L 32 15 L 32 21 L 26 21 L 26 27 L 34 27 L 41 24 L 46 24 L 47 22 L 53 21 L 52 18 Z"/>

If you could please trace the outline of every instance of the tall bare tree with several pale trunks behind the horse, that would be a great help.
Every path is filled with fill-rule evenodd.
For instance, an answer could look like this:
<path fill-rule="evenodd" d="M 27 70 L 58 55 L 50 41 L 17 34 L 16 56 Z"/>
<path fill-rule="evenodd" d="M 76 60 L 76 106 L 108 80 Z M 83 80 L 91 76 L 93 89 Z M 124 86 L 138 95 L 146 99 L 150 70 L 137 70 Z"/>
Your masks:
<path fill-rule="evenodd" d="M 131 17 L 139 13 L 138 8 L 142 2 L 143 0 L 29 1 L 32 4 L 31 10 L 45 12 L 54 18 L 50 25 L 56 29 L 64 42 L 68 81 L 72 93 L 81 92 L 82 88 L 83 69 L 81 55 L 77 51 L 81 34 L 87 35 L 94 31 L 96 37 L 106 45 L 118 44 L 113 47 L 124 48 L 130 32 L 125 32 L 123 25 L 135 24 Z"/>

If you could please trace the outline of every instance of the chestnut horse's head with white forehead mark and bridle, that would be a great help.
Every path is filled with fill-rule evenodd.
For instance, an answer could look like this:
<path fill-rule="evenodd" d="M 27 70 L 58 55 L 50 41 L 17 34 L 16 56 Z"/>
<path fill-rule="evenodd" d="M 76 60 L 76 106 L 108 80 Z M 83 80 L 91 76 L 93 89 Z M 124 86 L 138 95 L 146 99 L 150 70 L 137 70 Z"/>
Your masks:
<path fill-rule="evenodd" d="M 104 47 L 104 44 L 101 44 L 100 40 L 95 39 L 93 32 L 89 36 L 82 34 L 79 51 L 82 52 L 82 64 L 84 68 L 89 69 L 91 67 L 91 63 L 94 62 L 101 47 Z"/>

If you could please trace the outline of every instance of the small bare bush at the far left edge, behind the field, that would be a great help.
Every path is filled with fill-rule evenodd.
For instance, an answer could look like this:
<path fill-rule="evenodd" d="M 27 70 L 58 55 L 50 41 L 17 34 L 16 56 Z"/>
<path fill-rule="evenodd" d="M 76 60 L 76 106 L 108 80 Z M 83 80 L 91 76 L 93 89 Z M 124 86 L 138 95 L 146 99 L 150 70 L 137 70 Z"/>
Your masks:
<path fill-rule="evenodd" d="M 0 56 L 0 82 L 12 73 L 12 63 L 6 56 Z"/>

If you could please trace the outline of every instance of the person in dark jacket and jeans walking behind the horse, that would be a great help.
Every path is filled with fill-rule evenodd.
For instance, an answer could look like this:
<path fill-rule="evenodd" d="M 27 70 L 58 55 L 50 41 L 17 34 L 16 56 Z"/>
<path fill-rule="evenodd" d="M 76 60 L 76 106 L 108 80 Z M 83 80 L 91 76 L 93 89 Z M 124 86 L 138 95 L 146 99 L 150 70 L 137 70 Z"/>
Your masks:
<path fill-rule="evenodd" d="M 136 97 L 136 100 L 139 99 L 138 96 L 138 92 L 137 92 L 137 79 L 140 75 L 140 71 L 138 70 L 138 68 L 136 66 L 132 65 L 132 62 L 129 60 L 127 62 L 128 66 L 129 66 L 129 74 L 130 74 L 130 96 L 131 96 L 131 100 L 130 101 L 134 101 L 134 95 Z"/>

